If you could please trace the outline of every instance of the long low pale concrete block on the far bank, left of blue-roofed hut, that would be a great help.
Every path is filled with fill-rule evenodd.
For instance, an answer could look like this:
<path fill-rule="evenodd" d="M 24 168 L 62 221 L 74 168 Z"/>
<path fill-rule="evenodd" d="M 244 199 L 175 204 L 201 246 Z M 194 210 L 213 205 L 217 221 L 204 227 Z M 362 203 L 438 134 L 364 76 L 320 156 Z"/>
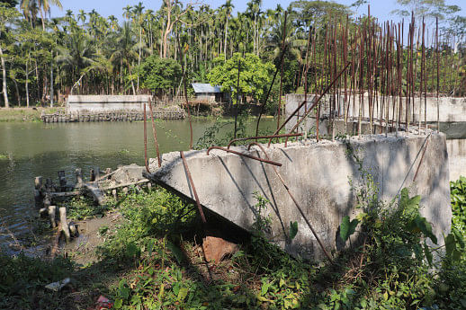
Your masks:
<path fill-rule="evenodd" d="M 69 96 L 67 112 L 143 111 L 149 95 L 75 95 Z"/>

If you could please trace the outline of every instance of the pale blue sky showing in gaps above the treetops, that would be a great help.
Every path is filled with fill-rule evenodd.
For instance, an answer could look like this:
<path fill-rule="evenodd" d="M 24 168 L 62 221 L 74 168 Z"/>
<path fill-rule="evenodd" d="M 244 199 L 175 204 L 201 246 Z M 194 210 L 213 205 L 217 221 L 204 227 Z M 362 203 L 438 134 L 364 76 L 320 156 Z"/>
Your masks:
<path fill-rule="evenodd" d="M 269 8 L 275 8 L 277 4 L 281 4 L 282 7 L 287 7 L 292 0 L 263 0 L 262 9 L 266 10 Z M 350 5 L 355 0 L 336 0 L 334 2 L 339 4 Z M 63 10 L 59 10 L 56 7 L 52 7 L 51 16 L 58 17 L 63 16 L 67 10 L 72 10 L 77 13 L 80 9 L 86 13 L 93 9 L 103 16 L 115 15 L 118 19 L 122 18 L 122 8 L 127 5 L 134 5 L 142 2 L 146 9 L 152 9 L 156 11 L 160 8 L 162 0 L 61 0 Z M 187 1 L 184 1 L 186 3 Z M 232 3 L 235 5 L 234 12 L 243 12 L 246 10 L 246 3 L 248 0 L 233 0 Z M 221 4 L 224 4 L 224 0 L 202 0 L 203 4 L 210 4 L 212 8 L 217 8 Z M 390 12 L 397 8 L 396 0 L 370 0 L 371 4 L 371 15 L 374 15 L 379 19 L 380 22 L 387 20 L 396 20 L 396 17 L 391 15 Z M 446 4 L 458 5 L 462 8 L 461 14 L 466 16 L 466 0 L 446 0 Z M 360 14 L 367 13 L 367 6 L 360 8 Z"/>

